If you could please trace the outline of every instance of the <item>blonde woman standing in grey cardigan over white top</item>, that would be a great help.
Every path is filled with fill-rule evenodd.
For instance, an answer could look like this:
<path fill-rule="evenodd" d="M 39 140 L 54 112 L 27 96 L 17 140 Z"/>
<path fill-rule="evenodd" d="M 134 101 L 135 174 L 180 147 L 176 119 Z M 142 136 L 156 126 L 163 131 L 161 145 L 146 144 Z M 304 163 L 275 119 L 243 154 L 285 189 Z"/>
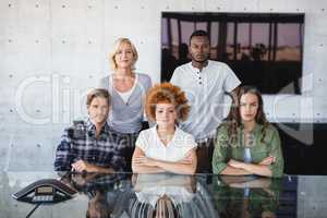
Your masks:
<path fill-rule="evenodd" d="M 108 89 L 112 97 L 108 123 L 125 140 L 128 171 L 131 171 L 134 144 L 144 121 L 145 94 L 152 87 L 152 80 L 147 74 L 135 72 L 137 59 L 133 43 L 129 38 L 118 38 L 109 56 L 112 72 L 102 77 L 99 85 Z"/>

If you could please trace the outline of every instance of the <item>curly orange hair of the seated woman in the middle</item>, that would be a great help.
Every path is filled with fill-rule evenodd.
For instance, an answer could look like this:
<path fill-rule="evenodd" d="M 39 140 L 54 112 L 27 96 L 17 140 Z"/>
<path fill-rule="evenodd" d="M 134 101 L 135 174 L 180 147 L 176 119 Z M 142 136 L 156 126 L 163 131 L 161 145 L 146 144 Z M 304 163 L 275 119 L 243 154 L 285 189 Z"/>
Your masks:
<path fill-rule="evenodd" d="M 155 85 L 147 93 L 145 111 L 149 120 L 156 121 L 156 105 L 168 102 L 174 105 L 178 120 L 185 121 L 190 112 L 190 106 L 185 93 L 171 83 Z"/>

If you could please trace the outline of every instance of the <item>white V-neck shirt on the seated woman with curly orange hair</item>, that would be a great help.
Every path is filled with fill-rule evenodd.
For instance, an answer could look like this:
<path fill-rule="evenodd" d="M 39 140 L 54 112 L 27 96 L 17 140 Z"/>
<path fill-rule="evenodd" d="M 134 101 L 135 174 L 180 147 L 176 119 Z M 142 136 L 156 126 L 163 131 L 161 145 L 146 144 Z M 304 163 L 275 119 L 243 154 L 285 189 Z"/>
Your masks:
<path fill-rule="evenodd" d="M 158 136 L 157 125 L 142 131 L 135 144 L 146 157 L 164 161 L 182 160 L 192 148 L 197 146 L 194 137 L 178 126 L 175 126 L 173 138 L 164 145 Z"/>

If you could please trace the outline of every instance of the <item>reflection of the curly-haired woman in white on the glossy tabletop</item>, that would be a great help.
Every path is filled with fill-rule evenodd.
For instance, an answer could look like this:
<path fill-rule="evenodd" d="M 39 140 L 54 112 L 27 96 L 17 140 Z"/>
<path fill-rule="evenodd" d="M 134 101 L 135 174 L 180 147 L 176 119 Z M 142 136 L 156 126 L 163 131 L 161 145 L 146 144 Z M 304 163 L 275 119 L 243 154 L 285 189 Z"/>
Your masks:
<path fill-rule="evenodd" d="M 209 193 L 193 175 L 133 175 L 132 217 L 216 217 Z"/>

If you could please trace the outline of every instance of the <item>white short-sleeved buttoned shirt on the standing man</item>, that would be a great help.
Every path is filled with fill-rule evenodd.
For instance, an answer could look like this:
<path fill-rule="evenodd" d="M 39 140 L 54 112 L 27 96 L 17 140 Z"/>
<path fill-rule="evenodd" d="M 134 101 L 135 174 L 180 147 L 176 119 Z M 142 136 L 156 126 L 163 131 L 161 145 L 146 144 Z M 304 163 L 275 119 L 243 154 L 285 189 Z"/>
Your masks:
<path fill-rule="evenodd" d="M 189 119 L 181 129 L 196 140 L 213 137 L 223 119 L 223 96 L 241 82 L 233 71 L 222 62 L 208 61 L 199 71 L 192 62 L 177 68 L 170 81 L 185 92 L 191 105 Z"/>

